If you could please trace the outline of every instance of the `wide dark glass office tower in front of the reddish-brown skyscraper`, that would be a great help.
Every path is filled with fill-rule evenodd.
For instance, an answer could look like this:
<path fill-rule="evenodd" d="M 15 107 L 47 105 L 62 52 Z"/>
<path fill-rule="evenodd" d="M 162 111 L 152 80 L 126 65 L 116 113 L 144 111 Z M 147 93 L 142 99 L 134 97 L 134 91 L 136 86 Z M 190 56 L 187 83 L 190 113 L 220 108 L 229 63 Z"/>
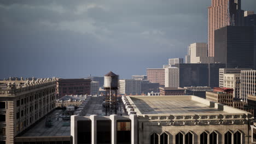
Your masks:
<path fill-rule="evenodd" d="M 254 32 L 249 26 L 226 26 L 214 31 L 214 61 L 226 68 L 254 67 Z"/>

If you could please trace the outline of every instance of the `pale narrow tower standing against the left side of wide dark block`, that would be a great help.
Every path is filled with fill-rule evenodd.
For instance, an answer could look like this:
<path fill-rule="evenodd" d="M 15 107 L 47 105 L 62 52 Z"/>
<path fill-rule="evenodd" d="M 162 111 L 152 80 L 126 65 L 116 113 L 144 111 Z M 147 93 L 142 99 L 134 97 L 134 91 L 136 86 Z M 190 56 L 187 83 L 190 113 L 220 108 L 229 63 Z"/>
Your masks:
<path fill-rule="evenodd" d="M 165 87 L 179 87 L 179 68 L 165 68 Z"/>

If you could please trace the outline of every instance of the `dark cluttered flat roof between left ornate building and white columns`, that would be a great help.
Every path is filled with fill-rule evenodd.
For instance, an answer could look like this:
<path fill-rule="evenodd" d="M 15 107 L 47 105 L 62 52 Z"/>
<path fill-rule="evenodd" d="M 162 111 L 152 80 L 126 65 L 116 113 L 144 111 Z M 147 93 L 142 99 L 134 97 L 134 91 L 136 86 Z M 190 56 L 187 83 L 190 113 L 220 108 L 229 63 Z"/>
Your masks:
<path fill-rule="evenodd" d="M 48 128 L 45 126 L 46 118 L 44 118 L 21 136 L 70 136 L 70 121 L 62 121 L 62 118 L 59 118 L 59 121 L 57 121 L 57 117 L 61 113 L 62 110 L 55 110 L 48 116 L 53 119 L 52 127 Z M 69 123 L 69 126 L 64 126 L 67 123 Z"/>

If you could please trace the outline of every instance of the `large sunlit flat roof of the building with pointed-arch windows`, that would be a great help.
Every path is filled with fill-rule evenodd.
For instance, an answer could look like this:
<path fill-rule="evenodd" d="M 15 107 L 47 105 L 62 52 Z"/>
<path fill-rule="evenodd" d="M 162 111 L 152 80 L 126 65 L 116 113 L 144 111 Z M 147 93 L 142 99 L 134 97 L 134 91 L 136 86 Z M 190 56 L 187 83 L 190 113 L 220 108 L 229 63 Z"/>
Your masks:
<path fill-rule="evenodd" d="M 248 113 L 192 95 L 127 97 L 137 115 Z"/>

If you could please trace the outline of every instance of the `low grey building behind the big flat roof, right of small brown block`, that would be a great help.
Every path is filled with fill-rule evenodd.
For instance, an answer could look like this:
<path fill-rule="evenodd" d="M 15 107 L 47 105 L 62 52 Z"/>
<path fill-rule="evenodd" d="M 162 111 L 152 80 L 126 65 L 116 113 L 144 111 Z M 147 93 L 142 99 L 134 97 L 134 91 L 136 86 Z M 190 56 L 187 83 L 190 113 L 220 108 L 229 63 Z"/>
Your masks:
<path fill-rule="evenodd" d="M 213 92 L 211 87 L 184 87 L 186 95 L 195 95 L 200 98 L 206 98 L 206 92 Z"/>

